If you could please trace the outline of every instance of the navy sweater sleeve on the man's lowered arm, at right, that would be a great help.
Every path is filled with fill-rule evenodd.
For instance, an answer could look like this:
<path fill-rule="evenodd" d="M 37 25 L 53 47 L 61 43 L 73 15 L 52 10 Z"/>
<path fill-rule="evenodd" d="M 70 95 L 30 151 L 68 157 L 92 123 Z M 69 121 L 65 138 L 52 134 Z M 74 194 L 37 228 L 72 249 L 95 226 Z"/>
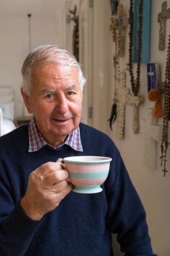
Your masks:
<path fill-rule="evenodd" d="M 105 188 L 107 225 L 112 233 L 117 234 L 120 250 L 125 252 L 125 256 L 155 255 L 143 205 L 119 153 L 113 157 Z"/>

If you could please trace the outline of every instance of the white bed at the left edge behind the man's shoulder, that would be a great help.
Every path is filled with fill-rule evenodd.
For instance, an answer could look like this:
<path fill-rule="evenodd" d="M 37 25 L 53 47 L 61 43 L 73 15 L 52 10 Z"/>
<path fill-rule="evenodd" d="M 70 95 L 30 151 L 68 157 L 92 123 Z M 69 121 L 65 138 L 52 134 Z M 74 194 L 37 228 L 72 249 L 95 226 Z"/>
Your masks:
<path fill-rule="evenodd" d="M 14 95 L 11 87 L 0 87 L 0 136 L 16 129 L 14 124 Z"/>

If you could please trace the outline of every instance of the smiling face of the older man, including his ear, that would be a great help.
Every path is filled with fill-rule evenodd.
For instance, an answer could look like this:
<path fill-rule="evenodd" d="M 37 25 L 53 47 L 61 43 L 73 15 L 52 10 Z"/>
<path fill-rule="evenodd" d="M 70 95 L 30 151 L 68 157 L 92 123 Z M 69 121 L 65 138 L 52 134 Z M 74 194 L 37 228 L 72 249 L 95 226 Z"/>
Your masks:
<path fill-rule="evenodd" d="M 82 90 L 75 68 L 51 62 L 35 70 L 30 96 L 22 93 L 45 140 L 56 145 L 80 123 Z"/>

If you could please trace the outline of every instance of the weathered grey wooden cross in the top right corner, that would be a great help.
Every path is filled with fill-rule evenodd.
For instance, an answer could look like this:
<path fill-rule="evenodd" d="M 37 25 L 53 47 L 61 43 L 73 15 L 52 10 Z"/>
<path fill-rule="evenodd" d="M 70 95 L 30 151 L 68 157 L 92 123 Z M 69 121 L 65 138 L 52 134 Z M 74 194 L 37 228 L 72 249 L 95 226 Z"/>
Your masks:
<path fill-rule="evenodd" d="M 160 23 L 159 29 L 159 50 L 165 49 L 165 28 L 166 28 L 166 18 L 170 18 L 170 8 L 167 8 L 167 2 L 162 3 L 162 12 L 158 14 L 158 23 Z"/>

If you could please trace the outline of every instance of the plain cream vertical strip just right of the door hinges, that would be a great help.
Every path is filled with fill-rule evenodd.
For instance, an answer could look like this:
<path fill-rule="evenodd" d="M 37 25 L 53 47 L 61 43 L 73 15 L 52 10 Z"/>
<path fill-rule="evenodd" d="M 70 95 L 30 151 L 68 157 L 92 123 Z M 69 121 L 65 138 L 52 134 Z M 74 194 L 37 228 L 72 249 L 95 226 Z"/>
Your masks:
<path fill-rule="evenodd" d="M 108 6 L 94 0 L 93 10 L 93 127 L 107 133 L 108 87 Z M 88 82 L 88 81 L 87 81 Z"/>

